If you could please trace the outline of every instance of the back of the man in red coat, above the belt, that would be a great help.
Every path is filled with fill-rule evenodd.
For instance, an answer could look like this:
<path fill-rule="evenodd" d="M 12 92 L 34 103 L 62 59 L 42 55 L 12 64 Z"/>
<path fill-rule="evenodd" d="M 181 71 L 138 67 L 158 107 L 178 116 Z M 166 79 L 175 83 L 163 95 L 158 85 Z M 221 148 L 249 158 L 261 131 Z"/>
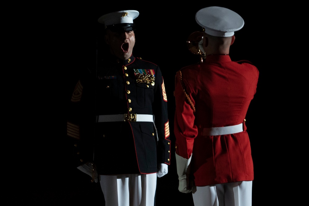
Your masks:
<path fill-rule="evenodd" d="M 243 122 L 256 93 L 258 70 L 228 55 L 211 55 L 204 63 L 181 69 L 182 80 L 194 101 L 195 121 L 203 128 Z"/>

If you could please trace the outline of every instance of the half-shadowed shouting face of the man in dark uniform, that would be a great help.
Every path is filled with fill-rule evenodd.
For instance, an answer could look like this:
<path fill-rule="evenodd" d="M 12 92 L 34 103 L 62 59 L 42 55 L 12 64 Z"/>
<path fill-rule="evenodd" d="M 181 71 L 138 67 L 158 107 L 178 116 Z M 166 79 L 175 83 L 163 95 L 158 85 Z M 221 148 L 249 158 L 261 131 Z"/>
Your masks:
<path fill-rule="evenodd" d="M 135 35 L 133 31 L 112 32 L 108 30 L 105 35 L 105 42 L 109 44 L 113 55 L 120 59 L 129 59 L 135 44 Z"/>

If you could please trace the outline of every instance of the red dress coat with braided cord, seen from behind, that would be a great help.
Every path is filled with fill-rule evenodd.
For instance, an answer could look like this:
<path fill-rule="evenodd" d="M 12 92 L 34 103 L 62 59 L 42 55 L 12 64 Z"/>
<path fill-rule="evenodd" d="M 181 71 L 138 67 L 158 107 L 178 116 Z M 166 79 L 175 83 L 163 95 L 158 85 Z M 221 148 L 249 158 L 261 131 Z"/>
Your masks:
<path fill-rule="evenodd" d="M 196 186 L 253 180 L 251 146 L 243 132 L 202 136 L 203 128 L 244 123 L 259 77 L 249 61 L 210 55 L 175 77 L 176 153 L 191 159 Z"/>

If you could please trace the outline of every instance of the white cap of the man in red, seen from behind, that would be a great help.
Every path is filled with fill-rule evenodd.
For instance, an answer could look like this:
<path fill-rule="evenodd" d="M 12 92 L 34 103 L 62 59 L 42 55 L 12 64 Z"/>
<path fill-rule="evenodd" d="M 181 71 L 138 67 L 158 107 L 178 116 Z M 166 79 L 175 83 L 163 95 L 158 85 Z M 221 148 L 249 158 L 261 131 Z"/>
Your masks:
<path fill-rule="evenodd" d="M 195 20 L 205 29 L 205 33 L 220 37 L 233 36 L 234 32 L 244 25 L 243 18 L 239 14 L 219 6 L 199 10 L 195 14 Z"/>

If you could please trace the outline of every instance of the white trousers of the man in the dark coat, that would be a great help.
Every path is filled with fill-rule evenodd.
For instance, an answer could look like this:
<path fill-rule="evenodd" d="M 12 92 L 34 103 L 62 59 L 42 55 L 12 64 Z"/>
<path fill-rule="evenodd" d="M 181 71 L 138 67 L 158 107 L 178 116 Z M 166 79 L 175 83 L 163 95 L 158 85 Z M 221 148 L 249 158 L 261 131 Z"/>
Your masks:
<path fill-rule="evenodd" d="M 106 206 L 154 206 L 157 174 L 100 175 Z"/>

